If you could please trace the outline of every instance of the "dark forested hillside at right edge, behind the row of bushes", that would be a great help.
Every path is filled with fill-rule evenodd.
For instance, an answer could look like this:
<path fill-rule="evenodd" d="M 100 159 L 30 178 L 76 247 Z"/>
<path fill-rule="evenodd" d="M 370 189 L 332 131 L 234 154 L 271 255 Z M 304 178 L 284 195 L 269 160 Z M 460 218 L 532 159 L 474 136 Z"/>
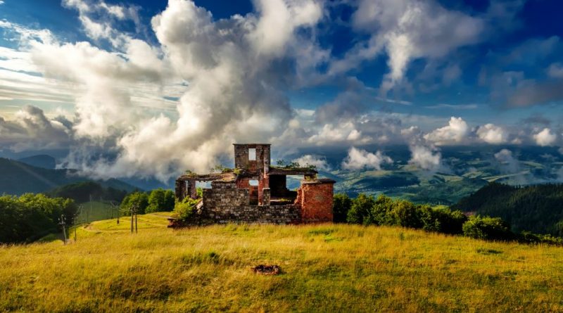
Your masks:
<path fill-rule="evenodd" d="M 563 184 L 517 187 L 491 183 L 453 209 L 501 217 L 514 231 L 563 236 Z"/>

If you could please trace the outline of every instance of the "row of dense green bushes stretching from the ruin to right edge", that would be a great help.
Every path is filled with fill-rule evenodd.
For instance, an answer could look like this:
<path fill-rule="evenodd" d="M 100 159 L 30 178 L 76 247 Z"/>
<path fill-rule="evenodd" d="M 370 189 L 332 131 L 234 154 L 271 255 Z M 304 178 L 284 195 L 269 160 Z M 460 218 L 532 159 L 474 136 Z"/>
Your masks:
<path fill-rule="evenodd" d="M 500 217 L 464 215 L 449 207 L 417 205 L 407 200 L 380 195 L 377 198 L 360 193 L 356 198 L 334 195 L 334 222 L 403 226 L 442 234 L 463 235 L 492 241 L 550 243 L 562 245 L 563 239 L 528 231 L 513 232 L 510 224 Z"/>

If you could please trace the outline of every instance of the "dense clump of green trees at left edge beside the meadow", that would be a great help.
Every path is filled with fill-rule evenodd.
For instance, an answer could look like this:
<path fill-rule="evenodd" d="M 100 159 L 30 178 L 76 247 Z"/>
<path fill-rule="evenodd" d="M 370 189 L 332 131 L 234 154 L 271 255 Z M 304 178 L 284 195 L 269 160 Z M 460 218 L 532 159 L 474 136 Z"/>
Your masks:
<path fill-rule="evenodd" d="M 42 193 L 0 197 L 0 243 L 35 241 L 58 230 L 58 219 L 71 224 L 77 212 L 72 199 L 49 198 Z"/>

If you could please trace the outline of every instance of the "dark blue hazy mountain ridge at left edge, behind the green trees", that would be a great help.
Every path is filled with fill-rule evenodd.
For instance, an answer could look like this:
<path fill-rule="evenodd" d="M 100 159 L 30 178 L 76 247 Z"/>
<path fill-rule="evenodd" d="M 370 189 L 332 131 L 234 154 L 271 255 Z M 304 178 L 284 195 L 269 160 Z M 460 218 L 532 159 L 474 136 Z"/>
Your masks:
<path fill-rule="evenodd" d="M 76 170 L 52 170 L 28 165 L 25 162 L 0 158 L 0 194 L 42 193 L 59 186 L 91 180 L 79 176 Z M 112 187 L 128 192 L 139 189 L 118 179 L 98 182 L 106 188 Z"/>

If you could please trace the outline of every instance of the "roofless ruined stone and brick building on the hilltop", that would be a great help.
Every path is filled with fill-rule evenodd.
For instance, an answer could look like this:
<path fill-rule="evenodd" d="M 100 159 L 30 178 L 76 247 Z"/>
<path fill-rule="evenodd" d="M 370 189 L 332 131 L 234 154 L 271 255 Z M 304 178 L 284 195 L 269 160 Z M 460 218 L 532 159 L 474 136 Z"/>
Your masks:
<path fill-rule="evenodd" d="M 296 191 L 286 187 L 290 175 L 303 177 Z M 198 181 L 210 182 L 210 188 L 203 189 L 189 224 L 332 222 L 335 181 L 317 179 L 317 171 L 308 167 L 270 165 L 270 144 L 235 143 L 234 170 L 182 175 L 176 180 L 176 197 L 196 199 Z"/>

